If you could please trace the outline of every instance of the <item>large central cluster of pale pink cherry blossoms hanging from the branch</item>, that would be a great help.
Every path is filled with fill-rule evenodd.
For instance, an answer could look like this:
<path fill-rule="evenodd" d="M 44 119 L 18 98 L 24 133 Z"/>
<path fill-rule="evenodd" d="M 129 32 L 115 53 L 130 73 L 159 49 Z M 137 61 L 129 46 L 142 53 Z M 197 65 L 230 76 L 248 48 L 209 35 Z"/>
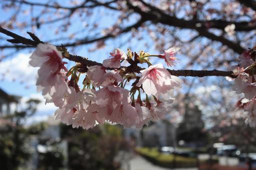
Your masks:
<path fill-rule="evenodd" d="M 85 73 L 77 64 L 66 68 L 63 61 L 66 50 L 51 44 L 38 44 L 30 64 L 40 67 L 37 88 L 46 102 L 59 107 L 55 118 L 73 127 L 92 128 L 97 123 L 120 123 L 124 127 L 137 128 L 150 120 L 164 118 L 174 100 L 174 89 L 183 81 L 169 73 L 162 64 L 152 65 L 149 57 L 163 58 L 167 65 L 175 64 L 179 47 L 165 50 L 163 54 L 139 54 L 117 48 L 103 64 L 83 65 Z M 122 61 L 147 63 L 148 68 L 134 73 L 131 67 L 121 66 Z M 83 88 L 78 84 L 84 74 Z M 128 85 L 127 82 L 131 82 Z M 130 90 L 126 89 L 130 86 Z M 126 87 L 126 88 L 125 88 Z"/>

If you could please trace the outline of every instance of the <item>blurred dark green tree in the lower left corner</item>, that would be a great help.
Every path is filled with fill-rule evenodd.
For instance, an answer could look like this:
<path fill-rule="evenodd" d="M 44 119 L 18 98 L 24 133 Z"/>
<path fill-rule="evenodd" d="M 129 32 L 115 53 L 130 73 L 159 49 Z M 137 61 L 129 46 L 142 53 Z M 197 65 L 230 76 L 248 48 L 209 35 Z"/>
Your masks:
<path fill-rule="evenodd" d="M 24 123 L 36 112 L 39 102 L 40 100 L 30 99 L 25 109 L 2 117 L 5 123 L 0 126 L 1 169 L 17 169 L 30 158 L 30 151 L 27 147 L 30 133 Z"/>

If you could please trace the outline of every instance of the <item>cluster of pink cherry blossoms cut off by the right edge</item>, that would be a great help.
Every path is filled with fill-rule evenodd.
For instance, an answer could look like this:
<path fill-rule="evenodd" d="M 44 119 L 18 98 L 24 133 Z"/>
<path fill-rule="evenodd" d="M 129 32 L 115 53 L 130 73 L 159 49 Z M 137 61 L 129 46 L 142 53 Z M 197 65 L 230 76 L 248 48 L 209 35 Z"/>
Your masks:
<path fill-rule="evenodd" d="M 244 51 L 239 56 L 238 67 L 233 70 L 237 77 L 233 89 L 236 93 L 244 94 L 244 98 L 237 102 L 237 106 L 247 113 L 245 122 L 250 126 L 256 125 L 256 46 Z"/>

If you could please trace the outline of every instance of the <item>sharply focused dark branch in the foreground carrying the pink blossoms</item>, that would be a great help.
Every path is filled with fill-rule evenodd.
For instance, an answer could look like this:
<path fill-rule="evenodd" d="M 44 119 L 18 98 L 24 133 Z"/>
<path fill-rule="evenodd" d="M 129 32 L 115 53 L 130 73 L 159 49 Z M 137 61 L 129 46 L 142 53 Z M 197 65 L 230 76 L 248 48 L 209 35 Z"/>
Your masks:
<path fill-rule="evenodd" d="M 16 33 L 13 33 L 7 29 L 4 29 L 2 27 L 0 27 L 0 32 L 13 37 L 14 39 L 14 43 L 18 42 L 18 43 L 22 43 L 22 44 L 26 44 L 26 45 L 30 45 L 31 47 L 36 47 L 37 44 L 39 43 L 44 43 L 43 41 L 41 41 L 40 39 L 38 39 L 38 37 L 34 34 L 32 34 L 31 32 L 29 32 L 30 36 L 33 38 L 32 39 L 28 39 L 26 37 L 20 36 Z M 91 65 L 102 65 L 102 63 L 96 62 L 96 61 L 92 61 L 89 60 L 85 57 L 82 56 L 78 56 L 78 55 L 72 55 L 70 54 L 69 57 L 67 57 L 67 59 L 71 60 L 71 61 L 75 61 L 75 62 L 79 62 L 82 63 L 85 66 L 91 66 Z M 140 66 L 137 65 L 131 65 L 128 67 L 124 67 L 127 69 L 130 69 L 133 72 L 139 72 L 142 69 Z M 171 70 L 168 69 L 168 71 L 172 74 L 172 75 L 176 75 L 176 76 L 197 76 L 197 77 L 203 77 L 203 76 L 229 76 L 229 77 L 235 77 L 232 74 L 232 71 L 221 71 L 221 70 L 191 70 L 191 69 L 184 69 L 184 70 Z"/>

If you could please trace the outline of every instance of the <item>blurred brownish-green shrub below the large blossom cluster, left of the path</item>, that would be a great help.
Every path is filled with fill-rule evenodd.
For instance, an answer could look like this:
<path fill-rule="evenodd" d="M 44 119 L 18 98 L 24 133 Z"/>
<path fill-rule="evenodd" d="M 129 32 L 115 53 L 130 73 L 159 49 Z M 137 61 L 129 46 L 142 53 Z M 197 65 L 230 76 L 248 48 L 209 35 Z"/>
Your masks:
<path fill-rule="evenodd" d="M 122 137 L 122 129 L 104 124 L 89 130 L 62 126 L 62 138 L 68 140 L 70 169 L 118 169 L 115 162 L 119 151 L 129 148 Z"/>

